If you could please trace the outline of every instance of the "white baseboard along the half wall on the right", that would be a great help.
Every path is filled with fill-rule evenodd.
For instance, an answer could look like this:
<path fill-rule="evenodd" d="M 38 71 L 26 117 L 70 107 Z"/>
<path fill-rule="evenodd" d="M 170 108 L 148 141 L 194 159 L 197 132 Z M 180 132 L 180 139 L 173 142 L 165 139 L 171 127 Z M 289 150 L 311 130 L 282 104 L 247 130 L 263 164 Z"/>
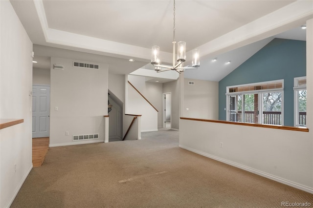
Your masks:
<path fill-rule="evenodd" d="M 294 188 L 298 188 L 300 190 L 303 190 L 303 191 L 306 191 L 306 192 L 309 192 L 309 193 L 312 193 L 313 194 L 313 188 L 311 187 L 307 187 L 307 186 L 303 186 L 301 184 L 298 184 L 298 183 L 295 183 L 295 182 L 292 182 L 292 181 L 289 181 L 289 180 L 286 180 L 284 178 L 280 178 L 280 177 L 277 177 L 277 176 L 274 176 L 274 175 L 271 175 L 271 174 L 268 174 L 266 172 L 263 172 L 263 171 L 260 171 L 260 170 L 257 170 L 257 169 L 254 169 L 254 168 L 251 168 L 251 167 L 248 167 L 248 166 L 243 166 L 241 164 L 238 164 L 238 163 L 235 163 L 235 162 L 232 162 L 232 161 L 229 161 L 229 160 L 225 160 L 223 158 L 220 158 L 220 157 L 216 157 L 214 155 L 210 155 L 210 154 L 207 154 L 205 152 L 201 152 L 201 151 L 198 151 L 196 149 L 193 149 L 193 148 L 189 148 L 189 147 L 186 147 L 186 146 L 182 146 L 182 145 L 179 145 L 179 147 L 183 148 L 183 149 L 187 149 L 191 152 L 195 152 L 197 154 L 200 154 L 204 157 L 208 157 L 208 158 L 211 158 L 213 160 L 217 160 L 217 161 L 220 161 L 222 163 L 225 163 L 225 164 L 228 164 L 230 166 L 235 166 L 235 167 L 238 167 L 240 169 L 243 169 L 243 170 L 246 170 L 248 172 L 251 172 L 251 173 L 254 173 L 254 174 L 257 174 L 257 175 L 260 175 L 260 176 L 263 176 L 265 178 L 268 178 L 268 179 L 271 179 L 273 181 L 277 181 L 279 183 L 282 183 L 282 184 L 285 184 L 285 185 L 288 185 L 288 186 L 291 186 L 291 187 L 294 187 Z"/>

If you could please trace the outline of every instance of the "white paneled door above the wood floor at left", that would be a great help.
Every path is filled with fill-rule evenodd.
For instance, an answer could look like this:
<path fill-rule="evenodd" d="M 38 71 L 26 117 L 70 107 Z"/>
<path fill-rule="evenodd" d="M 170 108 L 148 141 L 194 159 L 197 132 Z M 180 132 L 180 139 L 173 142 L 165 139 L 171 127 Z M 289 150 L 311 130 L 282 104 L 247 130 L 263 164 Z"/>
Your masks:
<path fill-rule="evenodd" d="M 50 86 L 33 85 L 33 138 L 49 137 Z"/>

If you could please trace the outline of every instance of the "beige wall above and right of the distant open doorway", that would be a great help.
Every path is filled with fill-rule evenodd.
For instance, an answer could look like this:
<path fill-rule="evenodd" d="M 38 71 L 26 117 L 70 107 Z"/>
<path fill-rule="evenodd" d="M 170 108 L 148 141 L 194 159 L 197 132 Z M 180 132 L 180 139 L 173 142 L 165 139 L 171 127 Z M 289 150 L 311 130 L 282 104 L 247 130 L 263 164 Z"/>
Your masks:
<path fill-rule="evenodd" d="M 179 80 L 163 83 L 163 93 L 171 92 L 172 129 L 179 129 Z"/>

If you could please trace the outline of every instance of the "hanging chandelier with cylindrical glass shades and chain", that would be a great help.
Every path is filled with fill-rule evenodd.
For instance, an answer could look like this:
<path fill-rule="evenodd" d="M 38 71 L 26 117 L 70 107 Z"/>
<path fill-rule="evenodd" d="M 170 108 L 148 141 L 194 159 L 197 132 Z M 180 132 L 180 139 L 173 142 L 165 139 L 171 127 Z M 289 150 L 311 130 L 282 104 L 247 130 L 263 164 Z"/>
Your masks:
<path fill-rule="evenodd" d="M 177 59 L 175 59 L 175 48 L 176 48 L 176 41 L 175 41 L 175 0 L 174 0 L 174 23 L 173 23 L 173 65 L 164 65 L 161 64 L 160 61 L 160 48 L 157 45 L 152 46 L 152 58 L 151 64 L 155 66 L 156 72 L 163 72 L 169 70 L 175 70 L 179 74 L 183 72 L 185 69 L 195 69 L 200 66 L 199 60 L 199 49 L 194 49 L 192 51 L 192 66 L 188 67 L 183 65 L 183 62 L 186 61 L 186 42 L 180 41 L 177 43 Z M 162 69 L 163 68 L 163 69 Z"/>

